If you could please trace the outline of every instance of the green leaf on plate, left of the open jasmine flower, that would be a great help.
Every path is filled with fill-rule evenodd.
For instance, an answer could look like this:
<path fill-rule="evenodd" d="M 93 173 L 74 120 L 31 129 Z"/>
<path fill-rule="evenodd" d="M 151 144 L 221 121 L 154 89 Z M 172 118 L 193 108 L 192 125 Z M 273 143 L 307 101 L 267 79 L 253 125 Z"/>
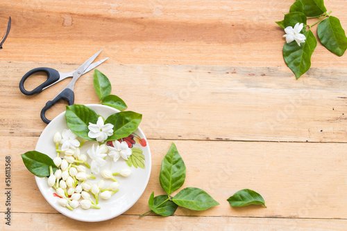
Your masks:
<path fill-rule="evenodd" d="M 81 104 L 70 105 L 66 107 L 65 118 L 67 127 L 77 136 L 85 140 L 95 140 L 88 136 L 89 122 L 96 124 L 99 118 L 94 110 Z"/>

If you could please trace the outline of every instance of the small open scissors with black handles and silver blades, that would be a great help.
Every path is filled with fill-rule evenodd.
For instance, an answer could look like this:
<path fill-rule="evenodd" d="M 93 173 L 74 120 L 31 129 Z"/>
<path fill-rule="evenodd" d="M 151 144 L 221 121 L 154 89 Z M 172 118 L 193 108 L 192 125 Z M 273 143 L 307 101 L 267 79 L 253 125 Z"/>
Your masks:
<path fill-rule="evenodd" d="M 106 59 L 108 59 L 107 57 L 92 64 L 94 59 L 96 59 L 96 57 L 101 53 L 101 51 L 102 50 L 99 50 L 95 55 L 87 59 L 87 61 L 84 64 L 82 64 L 75 71 L 72 71 L 70 73 L 61 73 L 53 68 L 39 67 L 34 68 L 31 71 L 28 71 L 28 73 L 26 73 L 22 77 L 22 80 L 19 82 L 19 89 L 22 91 L 22 93 L 24 93 L 24 95 L 33 95 L 35 93 L 40 93 L 49 86 L 52 86 L 53 84 L 56 84 L 57 82 L 60 82 L 61 80 L 64 80 L 67 77 L 72 77 L 71 82 L 69 82 L 69 84 L 67 84 L 67 86 L 65 86 L 65 88 L 62 89 L 62 91 L 60 91 L 60 93 L 58 93 L 58 95 L 56 95 L 56 97 L 53 98 L 53 100 L 49 100 L 49 102 L 46 102 L 46 106 L 44 106 L 44 108 L 41 111 L 41 119 L 43 120 L 43 122 L 45 122 L 46 124 L 49 124 L 49 122 L 51 122 L 51 120 L 48 120 L 46 118 L 45 113 L 58 101 L 65 100 L 69 105 L 74 104 L 74 84 L 78 80 L 78 78 L 81 77 L 81 75 L 87 73 L 88 71 L 91 71 L 92 69 L 96 68 L 96 66 L 99 66 L 100 64 L 105 62 Z M 28 77 L 37 72 L 46 73 L 46 82 L 44 82 L 40 86 L 37 86 L 35 89 L 33 89 L 33 91 L 26 91 L 26 89 L 24 89 L 24 82 L 26 81 L 26 79 L 28 79 Z"/>

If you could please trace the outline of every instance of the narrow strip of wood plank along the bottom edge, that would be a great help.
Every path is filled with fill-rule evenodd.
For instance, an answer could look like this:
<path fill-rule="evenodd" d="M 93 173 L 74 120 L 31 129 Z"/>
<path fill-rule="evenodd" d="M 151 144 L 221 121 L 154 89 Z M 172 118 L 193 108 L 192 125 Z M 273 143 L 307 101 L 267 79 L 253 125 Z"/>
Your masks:
<path fill-rule="evenodd" d="M 2 227 L 2 228 L 1 228 Z M 187 217 L 187 216 L 144 216 L 121 215 L 109 221 L 87 223 L 74 221 L 61 214 L 12 214 L 11 226 L 0 224 L 7 230 L 244 230 L 244 231 L 343 231 L 346 220 L 327 219 L 258 219 L 239 217 Z"/>

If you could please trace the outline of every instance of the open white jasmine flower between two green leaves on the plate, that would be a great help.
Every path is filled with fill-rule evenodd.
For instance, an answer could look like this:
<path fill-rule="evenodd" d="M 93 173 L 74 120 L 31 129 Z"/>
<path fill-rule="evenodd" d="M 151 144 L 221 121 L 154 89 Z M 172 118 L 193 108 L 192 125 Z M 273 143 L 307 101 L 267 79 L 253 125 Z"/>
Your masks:
<path fill-rule="evenodd" d="M 113 124 L 104 124 L 103 118 L 99 116 L 96 124 L 89 123 L 88 136 L 90 138 L 96 138 L 99 142 L 104 142 L 108 136 L 112 136 L 113 134 Z"/>

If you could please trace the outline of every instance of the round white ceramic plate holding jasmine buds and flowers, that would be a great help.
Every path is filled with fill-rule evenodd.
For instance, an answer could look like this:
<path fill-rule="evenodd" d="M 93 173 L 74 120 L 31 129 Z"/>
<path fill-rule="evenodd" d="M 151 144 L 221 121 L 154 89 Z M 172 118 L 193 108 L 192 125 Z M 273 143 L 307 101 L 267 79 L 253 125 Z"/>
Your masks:
<path fill-rule="evenodd" d="M 94 111 L 96 111 L 96 113 L 102 115 L 103 118 L 108 118 L 109 115 L 119 112 L 117 109 L 113 109 L 112 107 L 104 106 L 101 104 L 87 104 L 85 106 L 90 107 L 90 109 L 93 109 Z M 53 136 L 56 131 L 62 133 L 63 129 L 68 129 L 65 122 L 65 112 L 54 118 L 47 125 L 44 131 L 42 131 L 42 134 L 37 141 L 35 150 L 40 151 L 50 156 L 51 158 L 56 157 L 56 146 L 53 142 Z M 138 128 L 134 133 L 139 136 L 139 138 L 144 138 L 144 140 L 146 140 L 146 137 L 144 136 L 144 133 L 141 131 L 141 129 Z M 97 144 L 98 142 L 86 142 L 85 145 L 81 147 L 81 154 L 87 155 L 86 151 L 87 149 L 92 147 L 93 143 Z M 44 196 L 44 198 L 46 198 L 46 201 L 48 201 L 49 204 L 51 204 L 56 210 L 58 210 L 58 212 L 64 214 L 65 216 L 69 216 L 71 219 L 89 222 L 112 219 L 115 216 L 123 214 L 124 212 L 126 212 L 126 210 L 128 210 L 135 204 L 135 202 L 139 199 L 139 197 L 146 189 L 146 185 L 149 181 L 149 176 L 151 174 L 151 151 L 149 149 L 149 144 L 146 140 L 145 147 L 142 147 L 142 145 L 138 144 L 137 142 L 135 143 L 134 147 L 139 147 L 142 149 L 145 157 L 144 163 L 146 167 L 144 169 L 140 167 L 135 168 L 134 166 L 131 167 L 130 169 L 132 170 L 132 174 L 127 178 L 116 176 L 117 181 L 119 181 L 119 192 L 112 195 L 111 198 L 107 201 L 103 200 L 99 196 L 99 206 L 101 207 L 101 209 L 99 210 L 83 210 L 83 208 L 77 207 L 73 211 L 70 211 L 66 207 L 62 207 L 58 203 L 58 197 L 53 196 L 53 193 L 55 193 L 56 190 L 54 190 L 52 187 L 49 187 L 46 177 L 35 176 L 37 186 L 39 187 L 42 195 Z M 110 158 L 109 156 L 106 158 L 106 160 L 108 160 L 108 163 L 105 166 L 101 167 L 100 172 L 103 169 L 111 169 L 112 172 L 119 172 L 121 169 L 128 167 L 125 160 L 123 160 L 122 158 L 119 158 L 117 163 L 111 161 L 112 158 Z M 90 158 L 88 159 L 88 163 L 90 163 Z M 88 179 L 87 182 L 99 183 L 101 179 L 101 174 L 97 174 L 95 180 Z M 113 182 L 109 179 L 104 179 L 104 181 L 105 187 L 108 187 L 108 185 Z"/>

